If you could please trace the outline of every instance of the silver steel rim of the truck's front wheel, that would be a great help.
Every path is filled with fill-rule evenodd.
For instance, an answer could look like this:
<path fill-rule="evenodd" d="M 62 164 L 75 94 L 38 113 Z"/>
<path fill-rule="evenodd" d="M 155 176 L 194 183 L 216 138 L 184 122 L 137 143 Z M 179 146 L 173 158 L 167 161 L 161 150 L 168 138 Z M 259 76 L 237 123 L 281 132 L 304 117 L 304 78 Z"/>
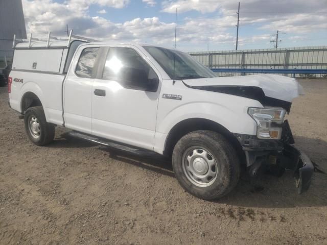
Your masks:
<path fill-rule="evenodd" d="M 213 155 L 199 146 L 193 146 L 184 152 L 182 167 L 186 178 L 199 187 L 212 185 L 219 170 Z"/>

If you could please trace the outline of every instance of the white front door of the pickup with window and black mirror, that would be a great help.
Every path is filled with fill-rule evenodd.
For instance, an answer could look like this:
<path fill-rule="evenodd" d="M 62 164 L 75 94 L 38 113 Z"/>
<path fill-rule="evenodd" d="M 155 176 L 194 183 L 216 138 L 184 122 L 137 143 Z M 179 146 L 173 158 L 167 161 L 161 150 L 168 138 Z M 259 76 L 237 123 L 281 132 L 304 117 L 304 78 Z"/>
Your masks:
<path fill-rule="evenodd" d="M 132 46 L 106 53 L 92 89 L 92 134 L 153 150 L 159 73 Z"/>

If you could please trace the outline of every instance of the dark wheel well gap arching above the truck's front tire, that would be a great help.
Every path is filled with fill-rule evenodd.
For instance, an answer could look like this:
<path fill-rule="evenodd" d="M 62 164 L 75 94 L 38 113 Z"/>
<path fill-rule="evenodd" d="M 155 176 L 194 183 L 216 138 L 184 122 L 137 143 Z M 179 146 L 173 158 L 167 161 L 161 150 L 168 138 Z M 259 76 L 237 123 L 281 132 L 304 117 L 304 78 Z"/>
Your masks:
<path fill-rule="evenodd" d="M 178 122 L 169 132 L 166 143 L 165 143 L 165 151 L 164 155 L 171 157 L 175 144 L 177 141 L 183 137 L 185 134 L 188 134 L 197 130 L 211 130 L 217 133 L 222 134 L 225 138 L 233 145 L 235 150 L 244 155 L 242 150 L 242 146 L 238 139 L 230 133 L 225 127 L 218 124 L 215 121 L 204 119 L 204 118 L 190 118 L 185 119 L 183 121 Z M 240 159 L 242 160 L 242 159 Z"/>

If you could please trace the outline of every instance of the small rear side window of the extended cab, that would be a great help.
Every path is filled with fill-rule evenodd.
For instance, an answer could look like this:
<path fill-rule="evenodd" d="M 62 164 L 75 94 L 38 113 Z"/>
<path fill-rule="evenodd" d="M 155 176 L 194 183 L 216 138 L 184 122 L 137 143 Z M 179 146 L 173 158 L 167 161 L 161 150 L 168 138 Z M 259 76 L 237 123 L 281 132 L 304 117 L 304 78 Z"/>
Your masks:
<path fill-rule="evenodd" d="M 93 78 L 94 64 L 98 55 L 99 47 L 88 47 L 82 51 L 76 66 L 76 74 L 83 78 Z"/>

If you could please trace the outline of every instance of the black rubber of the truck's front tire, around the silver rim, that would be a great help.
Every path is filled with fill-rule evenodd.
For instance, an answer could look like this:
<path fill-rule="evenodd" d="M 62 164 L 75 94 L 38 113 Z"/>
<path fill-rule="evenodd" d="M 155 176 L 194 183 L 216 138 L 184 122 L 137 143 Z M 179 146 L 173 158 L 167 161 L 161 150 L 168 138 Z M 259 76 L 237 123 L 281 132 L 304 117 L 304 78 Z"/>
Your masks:
<path fill-rule="evenodd" d="M 210 180 L 212 182 L 209 186 L 197 186 L 192 183 L 190 176 L 193 174 L 188 174 L 188 170 L 184 170 L 185 167 L 183 167 L 183 164 L 190 164 L 184 154 L 197 151 L 194 150 L 197 148 L 207 151 L 208 157 L 213 158 L 217 163 L 216 177 Z M 199 152 L 201 153 L 201 150 Z M 192 155 L 189 156 L 192 157 Z M 188 162 L 184 163 L 184 161 Z M 192 195 L 204 200 L 223 197 L 237 185 L 240 178 L 240 160 L 236 150 L 225 137 L 213 131 L 199 130 L 184 135 L 175 145 L 172 163 L 180 185 Z"/>

